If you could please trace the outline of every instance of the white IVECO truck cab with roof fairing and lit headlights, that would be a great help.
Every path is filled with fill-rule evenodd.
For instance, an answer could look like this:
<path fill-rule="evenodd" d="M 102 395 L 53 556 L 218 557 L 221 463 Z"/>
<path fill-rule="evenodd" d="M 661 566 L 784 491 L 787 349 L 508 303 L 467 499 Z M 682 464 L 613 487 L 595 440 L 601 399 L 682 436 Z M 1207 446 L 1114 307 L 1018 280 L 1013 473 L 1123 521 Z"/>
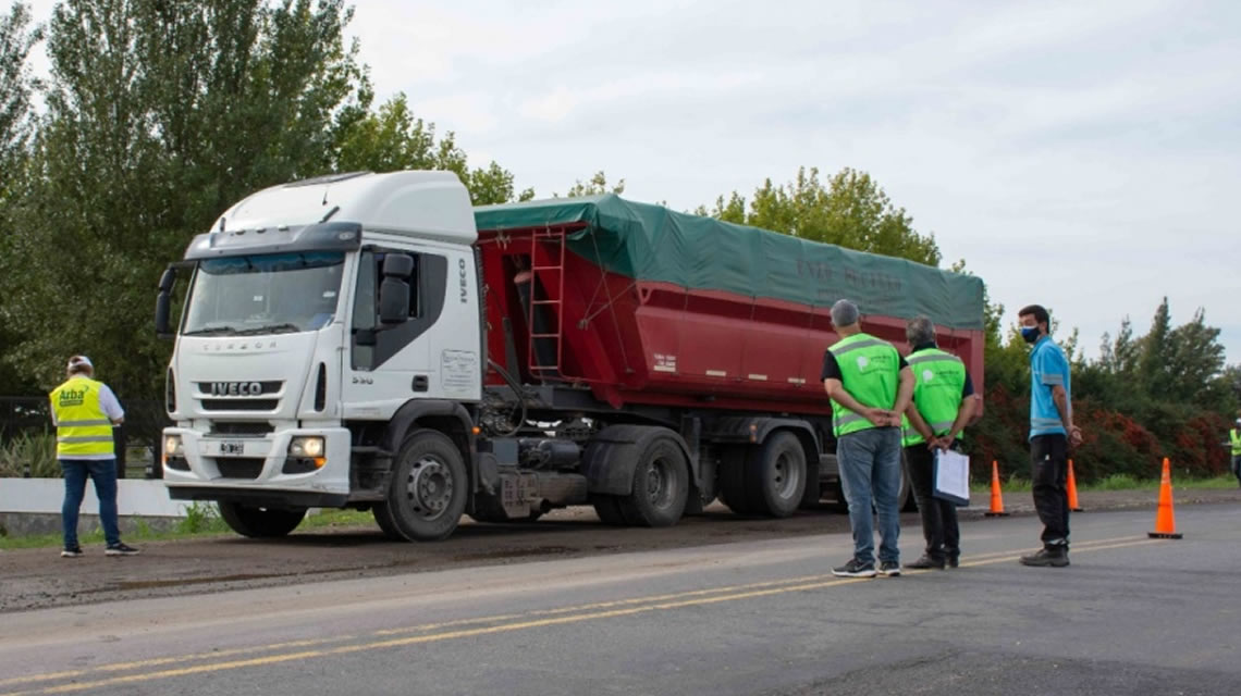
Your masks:
<path fill-rule="evenodd" d="M 386 500 L 390 466 L 369 480 L 366 460 L 391 457 L 400 443 L 382 433 L 402 409 L 443 419 L 441 437 L 468 453 L 485 370 L 475 238 L 469 195 L 443 171 L 274 186 L 196 236 L 156 305 L 170 334 L 187 270 L 168 368 L 171 496 L 218 501 L 238 532 L 278 536 L 307 507 Z M 436 468 L 410 481 L 422 522 L 460 515 L 464 471 Z M 385 531 L 433 538 L 442 526 Z"/>

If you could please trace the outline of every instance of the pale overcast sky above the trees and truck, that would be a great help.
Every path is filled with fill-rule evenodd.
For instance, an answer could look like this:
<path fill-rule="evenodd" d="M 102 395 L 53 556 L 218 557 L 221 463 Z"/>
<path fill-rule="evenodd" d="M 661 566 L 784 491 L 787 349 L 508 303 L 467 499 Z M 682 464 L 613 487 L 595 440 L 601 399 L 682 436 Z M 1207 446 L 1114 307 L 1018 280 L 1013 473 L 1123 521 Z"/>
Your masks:
<path fill-rule="evenodd" d="M 36 2 L 36 16 L 46 19 Z M 1097 354 L 1199 306 L 1241 362 L 1241 4 L 357 0 L 380 100 L 540 196 L 676 210 L 870 172 L 1006 308 Z"/>

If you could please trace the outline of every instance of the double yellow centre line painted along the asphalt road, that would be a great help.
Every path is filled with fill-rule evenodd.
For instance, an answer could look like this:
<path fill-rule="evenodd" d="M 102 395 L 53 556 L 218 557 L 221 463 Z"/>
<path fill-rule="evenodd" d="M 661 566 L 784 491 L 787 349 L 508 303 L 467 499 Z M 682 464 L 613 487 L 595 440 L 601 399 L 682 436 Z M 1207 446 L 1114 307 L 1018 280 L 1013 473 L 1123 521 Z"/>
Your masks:
<path fill-rule="evenodd" d="M 1124 548 L 1129 546 L 1145 546 L 1150 543 L 1160 543 L 1162 540 L 1144 538 L 1139 536 L 1131 537 L 1117 537 L 1112 540 L 1096 540 L 1092 542 L 1082 542 L 1073 545 L 1075 553 L 1091 552 L 1091 551 L 1103 551 L 1111 548 Z M 1013 556 L 1011 551 L 1000 552 L 1004 556 L 998 556 L 997 553 L 978 555 L 973 557 L 969 562 L 963 562 L 962 567 L 979 567 L 989 566 L 995 563 L 1001 563 L 1005 561 L 1015 561 L 1019 556 Z M 921 574 L 926 572 L 934 571 L 907 571 L 907 574 Z M 35 691 L 16 691 L 5 692 L 0 696 L 22 696 L 31 694 L 68 694 L 73 691 L 84 691 L 87 689 L 97 689 L 103 686 L 115 686 L 122 684 L 134 684 L 141 681 L 154 681 L 160 679 L 174 679 L 179 676 L 190 676 L 195 674 L 205 674 L 213 671 L 226 671 L 249 666 L 262 666 L 273 665 L 279 663 L 288 663 L 293 660 L 304 660 L 310 658 L 323 658 L 330 655 L 345 655 L 350 653 L 360 653 L 365 650 L 377 650 L 383 648 L 398 648 L 406 645 L 416 645 L 422 643 L 437 643 L 442 640 L 455 640 L 460 638 L 472 638 L 478 635 L 489 635 L 496 633 L 510 633 L 516 630 L 526 630 L 532 628 L 545 628 L 552 625 L 573 624 L 588 620 L 611 619 L 619 617 L 629 617 L 634 614 L 642 614 L 655 610 L 668 610 L 679 609 L 684 607 L 715 604 L 720 602 L 737 602 L 742 599 L 753 599 L 758 597 L 771 597 L 776 594 L 786 594 L 789 592 L 804 592 L 810 589 L 824 589 L 829 587 L 836 587 L 843 584 L 853 584 L 860 582 L 869 582 L 870 578 L 833 578 L 825 579 L 828 576 L 803 576 L 799 578 L 788 578 L 783 581 L 767 581 L 758 583 L 748 583 L 740 586 L 720 587 L 711 589 L 696 589 L 690 592 L 681 592 L 674 594 L 660 594 L 660 596 L 648 596 L 638 597 L 632 599 L 618 599 L 612 602 L 598 602 L 592 604 L 581 604 L 575 607 L 565 607 L 558 609 L 542 609 L 536 612 L 529 612 L 526 614 L 503 614 L 493 615 L 475 619 L 459 619 L 453 622 L 441 622 L 433 624 L 423 624 L 419 627 L 408 627 L 403 629 L 385 629 L 375 631 L 374 636 L 380 635 L 392 635 L 400 633 L 417 633 L 424 630 L 436 630 L 441 628 L 450 628 L 454 625 L 469 625 L 478 623 L 494 623 L 494 622 L 508 622 L 511 619 L 521 619 L 525 617 L 544 615 L 550 618 L 530 619 L 530 620 L 517 620 L 514 623 L 501 623 L 498 625 L 488 625 L 480 628 L 449 630 L 443 633 L 432 633 L 426 635 L 410 635 L 405 638 L 393 638 L 387 640 L 371 640 L 366 643 L 356 643 L 351 645 L 340 645 L 336 648 L 325 648 L 315 650 L 303 650 L 298 653 L 284 653 L 277 655 L 268 655 L 264 658 L 252 658 L 248 660 L 233 660 L 226 663 L 208 663 L 204 665 L 195 665 L 189 667 L 180 667 L 172 670 L 155 671 L 125 675 L 118 677 L 102 679 L 88 682 L 66 684 L 60 686 L 48 686 L 37 689 Z M 634 605 L 629 605 L 634 604 Z M 607 610 L 592 610 L 607 607 L 623 607 Z M 568 615 L 555 615 L 555 614 L 568 614 Z M 302 648 L 310 645 L 321 645 L 326 643 L 339 643 L 343 640 L 351 640 L 357 636 L 335 636 L 326 639 L 310 639 L 310 640 L 298 640 L 289 643 L 278 643 L 266 646 L 257 648 L 238 648 L 222 651 L 213 651 L 208 654 L 197 655 L 185 655 L 185 656 L 170 656 L 170 658 L 156 658 L 151 660 L 139 660 L 132 663 L 122 663 L 115 665 L 105 665 L 101 667 L 94 667 L 89 670 L 73 670 L 65 672 L 51 672 L 42 675 L 31 675 L 25 677 L 14 677 L 0 681 L 0 686 L 4 685 L 16 685 L 16 684 L 30 684 L 35 681 L 52 681 L 58 679 L 68 679 L 76 676 L 83 676 L 92 672 L 114 672 L 114 671 L 128 671 L 132 669 L 143 669 L 151 666 L 161 666 L 174 663 L 185 663 L 199 659 L 218 659 L 222 656 L 231 656 L 241 653 L 254 653 L 254 651 L 267 651 L 267 650 L 280 650 L 287 648 Z"/>

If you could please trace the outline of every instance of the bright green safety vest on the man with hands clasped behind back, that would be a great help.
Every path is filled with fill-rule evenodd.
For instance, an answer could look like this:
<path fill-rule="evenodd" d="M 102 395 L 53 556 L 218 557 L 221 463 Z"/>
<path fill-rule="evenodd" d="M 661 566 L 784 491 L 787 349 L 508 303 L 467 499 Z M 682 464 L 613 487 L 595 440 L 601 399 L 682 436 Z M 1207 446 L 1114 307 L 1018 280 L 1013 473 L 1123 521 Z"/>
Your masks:
<path fill-rule="evenodd" d="M 896 406 L 901 354 L 892 344 L 870 334 L 856 334 L 838 341 L 828 351 L 840 366 L 840 382 L 845 391 L 859 403 L 872 408 Z M 831 426 L 838 438 L 875 427 L 861 413 L 849 411 L 835 401 L 831 402 Z"/>

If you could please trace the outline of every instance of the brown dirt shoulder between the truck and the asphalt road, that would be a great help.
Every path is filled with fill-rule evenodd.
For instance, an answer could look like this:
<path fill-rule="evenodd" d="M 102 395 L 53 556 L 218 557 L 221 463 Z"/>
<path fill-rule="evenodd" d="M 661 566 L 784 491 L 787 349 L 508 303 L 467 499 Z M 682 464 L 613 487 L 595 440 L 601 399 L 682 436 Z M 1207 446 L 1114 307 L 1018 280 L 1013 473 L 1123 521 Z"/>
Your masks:
<path fill-rule="evenodd" d="M 1014 515 L 1033 514 L 1029 494 L 1004 497 Z M 1080 499 L 1086 511 L 1153 509 L 1157 502 L 1152 491 L 1083 493 Z M 1241 489 L 1178 490 L 1175 502 L 1241 502 Z M 970 506 L 962 517 L 982 517 L 985 510 L 985 505 Z M 920 522 L 916 514 L 907 514 L 901 524 L 917 529 Z M 0 612 L 848 532 L 849 519 L 827 510 L 787 520 L 746 519 L 716 504 L 702 516 L 663 530 L 606 527 L 593 510 L 578 507 L 537 522 L 465 522 L 439 543 L 397 543 L 377 529 L 359 527 L 272 541 L 221 536 L 153 542 L 143 545 L 140 556 L 128 558 L 104 557 L 102 548 L 88 548 L 81 558 L 60 558 L 56 548 L 14 550 L 0 552 Z"/>

